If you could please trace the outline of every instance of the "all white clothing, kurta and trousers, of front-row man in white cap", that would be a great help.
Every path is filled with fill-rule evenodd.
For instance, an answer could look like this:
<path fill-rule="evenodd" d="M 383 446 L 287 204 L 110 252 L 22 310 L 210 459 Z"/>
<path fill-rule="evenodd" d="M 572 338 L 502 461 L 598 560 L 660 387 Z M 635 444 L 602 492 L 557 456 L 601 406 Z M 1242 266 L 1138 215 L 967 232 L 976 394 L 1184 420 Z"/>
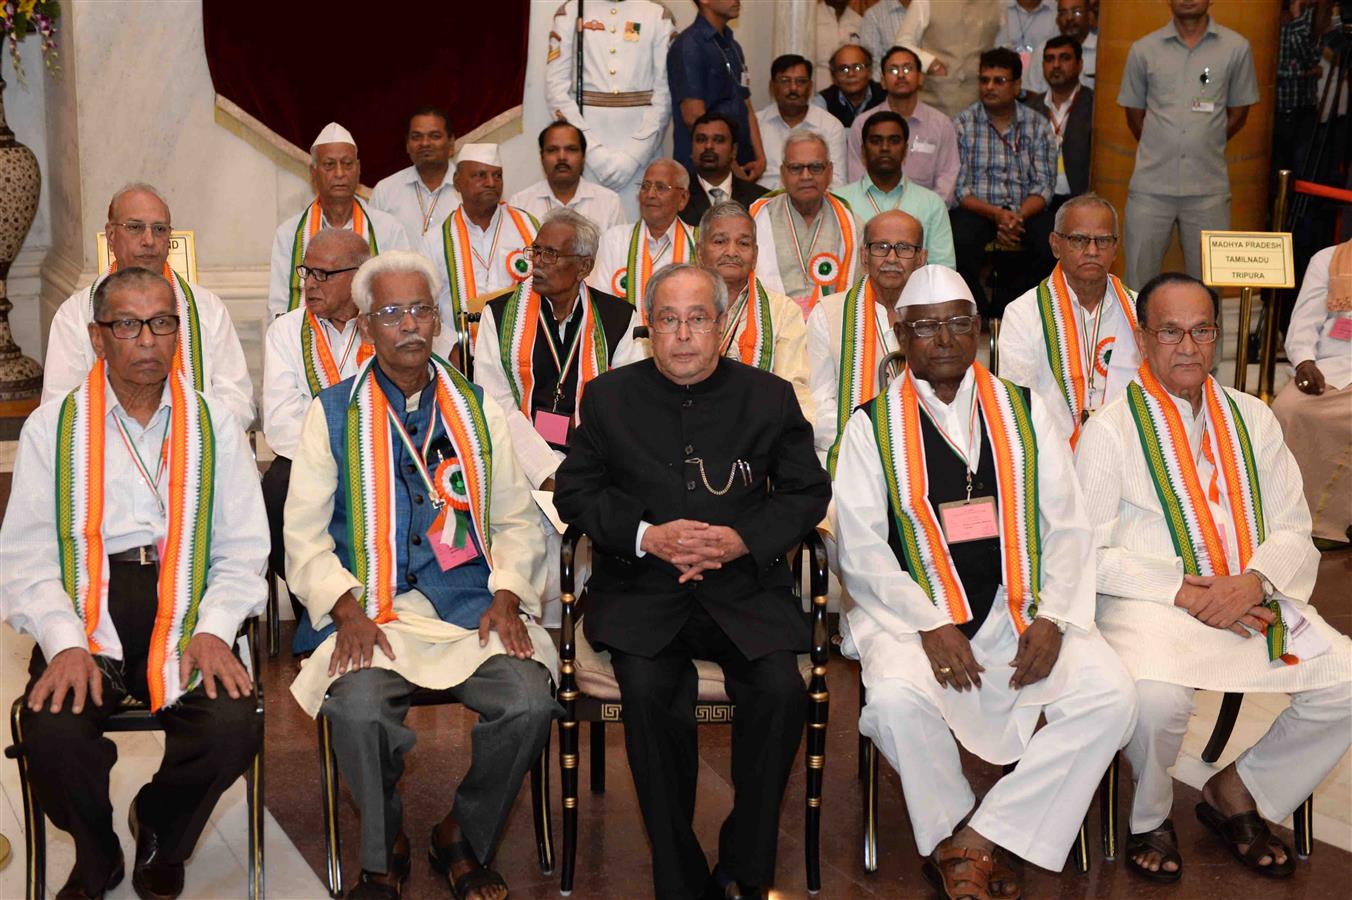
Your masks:
<path fill-rule="evenodd" d="M 936 412 L 937 424 L 965 446 L 971 372 L 952 404 L 941 403 L 923 381 L 917 380 L 917 389 Z M 929 854 L 976 805 L 971 824 L 977 832 L 1059 870 L 1103 769 L 1132 731 L 1136 704 L 1126 670 L 1094 627 L 1092 566 L 1084 565 L 1090 530 L 1069 449 L 1056 436 L 1037 396 L 1032 407 L 1034 432 L 1041 436 L 1038 615 L 1069 623 L 1051 674 L 1022 689 L 1010 686 L 1018 634 L 1000 586 L 971 641 L 973 655 L 986 668 L 982 686 L 959 692 L 936 681 L 919 632 L 950 620 L 887 543 L 892 514 L 873 423 L 865 411 L 856 412 L 845 427 L 834 482 L 841 577 L 854 601 L 846 612 L 852 642 L 842 649 L 859 657 L 868 689 L 860 731 L 902 776 L 919 851 Z M 896 453 L 914 450 L 899 445 Z M 1034 735 L 1044 712 L 1048 724 Z M 1019 761 L 980 804 L 963 776 L 955 738 L 988 762 Z"/>

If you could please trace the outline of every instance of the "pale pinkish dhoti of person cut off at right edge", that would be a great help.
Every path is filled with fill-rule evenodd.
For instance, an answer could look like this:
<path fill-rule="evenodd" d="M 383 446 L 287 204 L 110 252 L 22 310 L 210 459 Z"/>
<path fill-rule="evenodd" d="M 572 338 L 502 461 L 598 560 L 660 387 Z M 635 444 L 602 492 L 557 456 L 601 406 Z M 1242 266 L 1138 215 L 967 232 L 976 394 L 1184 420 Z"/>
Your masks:
<path fill-rule="evenodd" d="M 1315 538 L 1347 541 L 1352 524 L 1352 385 L 1321 395 L 1287 382 L 1272 401 L 1286 446 L 1301 468 Z"/>

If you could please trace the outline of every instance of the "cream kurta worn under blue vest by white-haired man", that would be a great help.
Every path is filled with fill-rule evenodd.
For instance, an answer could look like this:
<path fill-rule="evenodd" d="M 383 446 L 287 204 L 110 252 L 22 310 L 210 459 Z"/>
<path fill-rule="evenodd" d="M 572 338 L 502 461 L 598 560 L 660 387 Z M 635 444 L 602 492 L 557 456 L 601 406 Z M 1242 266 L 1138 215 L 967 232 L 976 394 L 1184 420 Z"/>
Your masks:
<path fill-rule="evenodd" d="M 535 647 L 535 659 L 558 673 L 558 654 L 549 634 L 535 624 L 541 612 L 539 599 L 548 561 L 539 541 L 538 511 L 530 497 L 516 457 L 511 451 L 511 432 L 502 409 L 492 397 L 484 397 L 484 419 L 493 446 L 493 477 L 489 485 L 489 531 L 493 568 L 488 591 L 511 591 L 521 600 L 521 609 Z M 291 591 L 303 597 L 310 620 L 322 630 L 331 624 L 329 614 L 347 592 L 360 600 L 364 592 L 354 574 L 343 569 L 329 535 L 334 496 L 338 489 L 338 464 L 329 446 L 329 426 L 319 401 L 310 405 L 301 428 L 300 446 L 291 470 L 287 495 L 287 576 Z M 502 639 L 489 635 L 479 646 L 477 631 L 442 622 L 430 601 L 416 591 L 395 597 L 399 619 L 381 626 L 395 658 L 376 650 L 372 665 L 399 673 L 422 688 L 450 688 L 470 674 L 489 657 L 503 653 Z M 337 635 L 330 635 L 301 664 L 291 693 L 311 716 L 316 715 L 324 692 L 341 676 L 329 676 L 329 661 Z"/>

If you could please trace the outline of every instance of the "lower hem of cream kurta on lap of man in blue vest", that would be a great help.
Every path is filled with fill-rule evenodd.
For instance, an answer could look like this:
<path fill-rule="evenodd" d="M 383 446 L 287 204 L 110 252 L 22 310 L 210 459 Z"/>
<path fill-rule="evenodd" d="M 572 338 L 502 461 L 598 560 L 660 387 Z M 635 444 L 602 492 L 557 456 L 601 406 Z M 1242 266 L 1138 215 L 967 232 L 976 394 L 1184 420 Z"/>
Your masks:
<path fill-rule="evenodd" d="M 489 657 L 507 653 L 496 631 L 488 632 L 488 643 L 479 646 L 477 628 L 461 628 L 437 618 L 437 609 L 419 591 L 410 591 L 395 597 L 395 612 L 399 618 L 380 626 L 389 641 L 395 658 L 376 647 L 372 666 L 396 672 L 419 688 L 445 691 L 465 681 Z M 549 669 L 558 681 L 558 651 L 554 642 L 530 616 L 522 616 L 526 631 L 535 647 L 535 661 Z M 339 674 L 329 674 L 329 661 L 333 657 L 337 634 L 329 635 L 315 649 L 308 659 L 300 664 L 300 674 L 291 682 L 291 693 L 306 715 L 315 716 L 324 701 L 329 685 Z"/>

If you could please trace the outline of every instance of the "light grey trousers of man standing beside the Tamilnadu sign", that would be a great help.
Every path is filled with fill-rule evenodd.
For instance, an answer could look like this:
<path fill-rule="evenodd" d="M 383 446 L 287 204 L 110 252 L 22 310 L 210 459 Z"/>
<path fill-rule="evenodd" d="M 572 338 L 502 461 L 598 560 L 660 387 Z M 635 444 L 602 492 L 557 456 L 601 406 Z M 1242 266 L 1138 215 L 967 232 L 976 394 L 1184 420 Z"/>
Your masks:
<path fill-rule="evenodd" d="M 1126 195 L 1126 222 L 1122 236 L 1122 264 L 1126 286 L 1140 291 L 1160 274 L 1164 251 L 1179 227 L 1183 265 L 1194 278 L 1202 277 L 1202 231 L 1225 231 L 1230 227 L 1230 195 L 1171 197 L 1132 191 Z"/>

